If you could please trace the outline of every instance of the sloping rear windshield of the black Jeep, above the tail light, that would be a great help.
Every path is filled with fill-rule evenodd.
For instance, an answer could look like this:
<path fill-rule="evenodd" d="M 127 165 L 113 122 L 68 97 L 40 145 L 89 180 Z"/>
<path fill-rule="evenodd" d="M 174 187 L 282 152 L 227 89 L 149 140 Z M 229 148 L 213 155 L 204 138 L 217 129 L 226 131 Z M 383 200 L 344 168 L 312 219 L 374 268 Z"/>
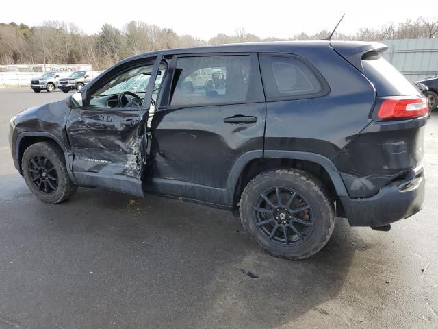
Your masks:
<path fill-rule="evenodd" d="M 378 96 L 417 95 L 417 89 L 402 73 L 375 52 L 362 57 L 363 73 L 374 84 Z"/>

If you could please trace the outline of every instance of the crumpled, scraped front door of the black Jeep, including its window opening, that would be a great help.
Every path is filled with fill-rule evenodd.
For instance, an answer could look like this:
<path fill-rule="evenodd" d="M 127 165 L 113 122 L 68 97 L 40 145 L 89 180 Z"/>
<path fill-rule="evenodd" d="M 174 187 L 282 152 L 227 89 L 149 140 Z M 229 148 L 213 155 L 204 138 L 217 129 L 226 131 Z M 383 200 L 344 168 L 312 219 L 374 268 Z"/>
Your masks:
<path fill-rule="evenodd" d="M 125 62 L 81 90 L 66 123 L 79 185 L 143 196 L 145 125 L 166 70 L 161 59 Z"/>

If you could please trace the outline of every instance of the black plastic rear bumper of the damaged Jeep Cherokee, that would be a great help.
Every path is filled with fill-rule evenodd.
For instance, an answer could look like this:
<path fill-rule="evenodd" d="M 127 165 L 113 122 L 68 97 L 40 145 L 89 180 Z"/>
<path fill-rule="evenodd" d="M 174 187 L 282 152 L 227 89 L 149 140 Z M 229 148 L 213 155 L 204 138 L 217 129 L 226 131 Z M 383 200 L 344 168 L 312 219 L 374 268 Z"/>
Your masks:
<path fill-rule="evenodd" d="M 383 186 L 372 197 L 340 197 L 350 226 L 385 226 L 419 212 L 424 201 L 424 170 L 417 167 Z"/>

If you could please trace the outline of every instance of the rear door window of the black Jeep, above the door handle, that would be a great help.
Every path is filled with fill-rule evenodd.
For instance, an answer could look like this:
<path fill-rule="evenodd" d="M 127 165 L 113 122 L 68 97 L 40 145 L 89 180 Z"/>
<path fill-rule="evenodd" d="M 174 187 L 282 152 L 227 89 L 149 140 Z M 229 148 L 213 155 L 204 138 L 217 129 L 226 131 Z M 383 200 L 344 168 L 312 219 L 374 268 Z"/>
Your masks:
<path fill-rule="evenodd" d="M 170 106 L 263 101 L 259 69 L 251 56 L 178 58 Z"/>

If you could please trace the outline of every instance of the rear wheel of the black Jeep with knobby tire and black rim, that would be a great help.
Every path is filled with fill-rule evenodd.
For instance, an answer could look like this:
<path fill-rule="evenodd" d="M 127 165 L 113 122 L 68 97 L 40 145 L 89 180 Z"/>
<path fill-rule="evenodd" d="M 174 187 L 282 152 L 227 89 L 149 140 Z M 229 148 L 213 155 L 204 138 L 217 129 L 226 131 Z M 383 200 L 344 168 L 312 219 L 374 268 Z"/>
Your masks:
<path fill-rule="evenodd" d="M 302 211 L 296 212 L 299 209 Z M 335 208 L 318 178 L 297 169 L 277 169 L 264 171 L 248 183 L 240 199 L 240 219 L 264 252 L 298 260 L 313 256 L 329 241 L 335 228 Z"/>

